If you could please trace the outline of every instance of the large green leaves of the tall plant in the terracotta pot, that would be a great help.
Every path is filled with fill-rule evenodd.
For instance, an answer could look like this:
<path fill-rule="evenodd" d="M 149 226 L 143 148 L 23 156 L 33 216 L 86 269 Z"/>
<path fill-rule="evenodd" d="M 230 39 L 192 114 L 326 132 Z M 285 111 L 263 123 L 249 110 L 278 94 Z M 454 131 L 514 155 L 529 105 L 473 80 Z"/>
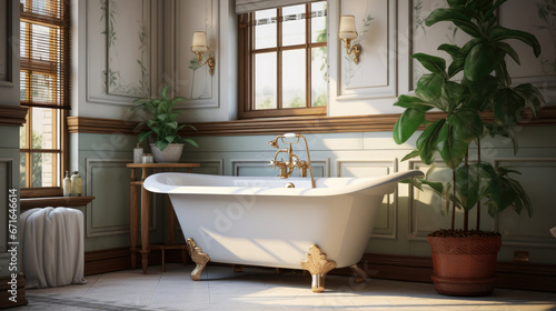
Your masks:
<path fill-rule="evenodd" d="M 536 117 L 544 103 L 535 86 L 512 87 L 506 59 L 512 58 L 518 64 L 520 60 L 506 41 L 522 41 L 532 48 L 535 57 L 539 56 L 540 46 L 528 32 L 498 26 L 495 11 L 506 0 L 447 0 L 448 8 L 436 9 L 425 19 L 429 27 L 440 21 L 453 22 L 470 39 L 461 47 L 451 43 L 438 47 L 451 58 L 449 63 L 425 53 L 413 56 L 429 73 L 417 81 L 415 97 L 400 96 L 395 103 L 405 111 L 394 127 L 393 137 L 400 144 L 419 127 L 425 127 L 417 139 L 417 149 L 403 160 L 419 157 L 424 163 L 431 164 L 440 158 L 455 172 L 455 179 L 444 184 L 431 181 L 428 175 L 407 183 L 418 189 L 428 185 L 466 213 L 485 200 L 493 217 L 507 208 L 518 213 L 526 210 L 530 215 L 527 194 L 517 180 L 508 177 L 518 172 L 493 168 L 480 159 L 474 164 L 467 162 L 469 144 L 479 142 L 486 134 L 510 138 L 514 152 L 517 152 L 513 128 L 524 110 L 533 111 Z M 461 71 L 461 80 L 451 80 Z M 427 121 L 426 113 L 433 108 L 445 112 L 445 117 L 435 122 Z M 483 121 L 481 112 L 493 113 L 494 122 Z"/>

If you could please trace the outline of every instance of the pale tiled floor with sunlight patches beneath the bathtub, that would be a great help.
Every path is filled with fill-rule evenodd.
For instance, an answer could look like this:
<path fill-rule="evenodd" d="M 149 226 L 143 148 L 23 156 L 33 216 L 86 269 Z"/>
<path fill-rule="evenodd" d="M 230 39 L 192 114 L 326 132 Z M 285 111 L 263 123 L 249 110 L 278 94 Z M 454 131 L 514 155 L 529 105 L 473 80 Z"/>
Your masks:
<path fill-rule="evenodd" d="M 496 289 L 489 297 L 454 298 L 431 284 L 328 275 L 327 290 L 312 293 L 310 278 L 270 269 L 208 267 L 191 281 L 192 267 L 168 264 L 87 278 L 87 284 L 28 290 L 17 310 L 556 310 L 556 293 Z"/>

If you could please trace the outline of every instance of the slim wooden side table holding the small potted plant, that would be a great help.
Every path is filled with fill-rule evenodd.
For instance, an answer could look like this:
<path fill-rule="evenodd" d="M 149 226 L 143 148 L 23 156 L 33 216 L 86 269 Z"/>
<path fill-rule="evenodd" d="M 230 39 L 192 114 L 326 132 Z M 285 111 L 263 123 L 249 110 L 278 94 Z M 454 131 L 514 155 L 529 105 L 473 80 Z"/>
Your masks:
<path fill-rule="evenodd" d="M 130 181 L 130 210 L 129 210 L 129 225 L 131 235 L 131 268 L 136 269 L 137 252 L 141 253 L 141 267 L 142 272 L 147 273 L 147 268 L 149 265 L 149 253 L 150 253 L 150 242 L 149 242 L 149 222 L 150 222 L 150 207 L 149 207 L 149 191 L 147 191 L 142 183 L 149 177 L 150 170 L 157 172 L 171 171 L 173 169 L 186 168 L 190 173 L 193 168 L 199 168 L 200 163 L 128 163 L 128 168 L 131 169 L 131 181 Z M 137 180 L 136 169 L 141 169 L 141 179 Z M 139 207 L 138 207 L 138 191 L 141 189 L 141 249 L 137 247 L 138 240 L 138 227 L 139 227 Z M 176 217 L 168 199 L 168 210 L 169 210 L 169 231 L 168 240 L 170 244 L 176 243 Z M 162 249 L 163 253 L 163 249 Z M 162 263 L 163 264 L 163 263 Z"/>

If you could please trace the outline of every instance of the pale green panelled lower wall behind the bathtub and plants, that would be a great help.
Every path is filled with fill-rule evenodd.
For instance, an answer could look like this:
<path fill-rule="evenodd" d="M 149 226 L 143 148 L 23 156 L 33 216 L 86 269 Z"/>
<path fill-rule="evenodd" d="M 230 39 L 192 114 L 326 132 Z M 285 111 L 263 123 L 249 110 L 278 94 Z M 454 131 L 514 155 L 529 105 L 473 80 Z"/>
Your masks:
<path fill-rule="evenodd" d="M 556 127 L 530 127 L 523 128 L 519 139 L 523 141 L 519 149 L 519 158 L 556 158 L 556 142 L 543 140 L 540 137 L 556 134 Z M 241 137 L 200 137 L 196 138 L 200 148 L 186 147 L 181 161 L 200 162 L 201 168 L 195 169 L 197 173 L 226 174 L 226 175 L 254 175 L 272 177 L 278 175 L 278 170 L 272 170 L 268 165 L 274 158 L 276 149 L 268 146 L 268 141 L 274 136 L 241 136 Z M 77 138 L 76 138 L 77 139 Z M 100 210 L 106 210 L 106 218 L 93 218 L 95 225 L 100 228 L 121 227 L 121 232 L 112 232 L 112 235 L 88 238 L 87 248 L 93 250 L 98 248 L 116 248 L 129 245 L 129 233 L 123 227 L 129 223 L 127 211 L 129 211 L 129 188 L 127 179 L 129 171 L 123 168 L 125 161 L 131 161 L 132 149 L 135 147 L 135 136 L 109 136 L 109 134 L 79 134 L 79 165 L 86 167 L 88 160 L 120 161 L 116 167 L 96 168 L 92 180 L 92 188 L 99 193 L 99 201 L 95 204 L 102 205 Z M 397 146 L 391 139 L 391 132 L 356 132 L 356 133 L 328 133 L 307 134 L 309 141 L 310 156 L 314 165 L 315 177 L 380 177 L 395 171 L 408 169 L 428 170 L 417 161 L 399 162 L 404 156 L 413 150 L 415 141 L 409 140 L 404 146 Z M 301 159 L 306 159 L 305 147 L 294 146 L 294 152 Z M 146 150 L 148 150 L 146 148 Z M 470 151 L 470 160 L 475 159 L 475 150 Z M 483 159 L 485 161 L 506 161 L 505 159 L 518 159 L 513 154 L 513 148 L 500 141 L 486 141 L 483 144 Z M 527 164 L 525 169 L 517 168 L 524 172 L 519 180 L 526 189 L 532 189 L 534 204 L 542 204 L 537 208 L 532 219 L 517 222 L 513 225 L 515 215 L 500 218 L 498 225 L 512 234 L 506 238 L 516 237 L 517 241 L 506 241 L 499 260 L 510 261 L 513 250 L 517 248 L 515 243 L 520 242 L 520 249 L 528 250 L 532 262 L 549 263 L 554 261 L 554 255 L 548 249 L 554 249 L 554 242 L 543 231 L 550 225 L 550 220 L 556 215 L 549 210 L 546 202 L 554 202 L 553 192 L 546 188 L 550 187 L 549 180 L 556 173 L 554 162 L 543 160 L 540 164 Z M 121 162 L 123 161 L 123 162 Z M 296 171 L 294 175 L 298 175 Z M 447 179 L 450 171 L 443 169 L 438 163 L 434 175 L 437 179 Z M 97 180 L 98 178 L 98 180 Z M 106 181 L 106 183 L 105 183 Z M 88 181 L 89 182 L 89 181 Z M 107 190 L 100 190 L 111 187 Z M 538 187 L 538 185 L 542 187 Z M 89 185 L 88 185 L 89 187 Z M 100 188 L 99 188 L 100 187 Z M 89 188 L 88 188 L 89 189 Z M 97 192 L 95 190 L 93 192 Z M 123 194 L 126 193 L 126 194 Z M 116 197 L 115 195 L 119 195 Z M 95 194 L 93 194 L 95 195 Z M 115 198 L 115 199 L 111 199 Z M 155 199 L 156 207 L 152 209 L 155 218 L 151 227 L 151 242 L 163 241 L 167 223 L 163 199 Z M 105 207 L 106 205 L 106 207 Z M 440 213 L 441 200 L 434 195 L 431 191 L 420 192 L 411 190 L 407 184 L 399 184 L 395 194 L 385 198 L 380 208 L 376 228 L 369 244 L 368 252 L 405 254 L 405 255 L 430 255 L 430 248 L 426 242 L 426 235 L 439 228 L 448 228 L 449 217 Z M 457 213 L 457 225 L 463 222 L 463 215 Z M 470 223 L 476 218 L 475 211 L 470 213 Z M 556 224 L 552 224 L 553 227 Z M 488 213 L 487 209 L 481 210 L 481 229 L 495 230 L 496 222 Z M 503 230 L 503 231 L 504 231 Z M 107 232 L 111 232 L 108 230 Z M 504 233 L 504 232 L 503 232 Z M 110 233 L 111 234 L 111 233 Z M 113 239 L 110 239 L 113 237 Z M 526 238 L 523 238 L 526 237 Z M 522 241 L 520 239 L 526 239 Z M 553 239 L 556 240 L 556 239 Z M 514 244 L 512 244 L 514 243 Z"/>

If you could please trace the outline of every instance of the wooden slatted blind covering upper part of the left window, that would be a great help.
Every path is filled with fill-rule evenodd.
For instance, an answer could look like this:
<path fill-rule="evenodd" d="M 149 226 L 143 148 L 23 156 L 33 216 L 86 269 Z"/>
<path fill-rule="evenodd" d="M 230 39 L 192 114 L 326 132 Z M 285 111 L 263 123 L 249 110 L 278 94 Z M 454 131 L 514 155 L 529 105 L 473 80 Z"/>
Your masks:
<path fill-rule="evenodd" d="M 20 19 L 21 106 L 70 108 L 69 0 L 24 0 Z"/>

